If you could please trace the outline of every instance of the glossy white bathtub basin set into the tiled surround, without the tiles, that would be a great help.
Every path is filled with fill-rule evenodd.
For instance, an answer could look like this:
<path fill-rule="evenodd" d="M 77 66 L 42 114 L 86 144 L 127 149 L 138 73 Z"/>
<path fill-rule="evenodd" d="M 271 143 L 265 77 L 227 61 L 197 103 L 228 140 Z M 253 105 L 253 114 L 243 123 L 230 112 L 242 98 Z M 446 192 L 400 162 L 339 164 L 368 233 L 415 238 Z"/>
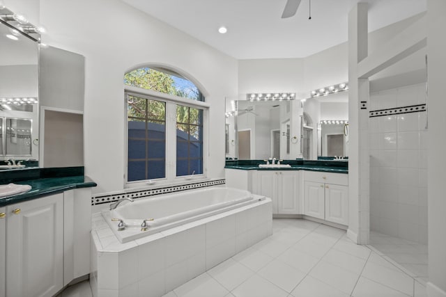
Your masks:
<path fill-rule="evenodd" d="M 102 216 L 118 240 L 125 243 L 263 199 L 236 188 L 206 188 L 122 202 L 114 210 L 102 211 Z M 119 220 L 125 230 L 118 230 Z M 148 228 L 143 229 L 144 220 Z"/>

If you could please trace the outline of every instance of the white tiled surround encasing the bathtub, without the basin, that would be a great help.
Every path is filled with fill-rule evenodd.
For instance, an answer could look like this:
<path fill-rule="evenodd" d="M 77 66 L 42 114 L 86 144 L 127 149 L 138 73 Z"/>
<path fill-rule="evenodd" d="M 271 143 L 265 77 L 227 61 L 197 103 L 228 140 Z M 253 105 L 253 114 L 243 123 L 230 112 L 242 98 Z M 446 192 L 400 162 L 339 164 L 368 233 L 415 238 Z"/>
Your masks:
<path fill-rule="evenodd" d="M 93 296 L 162 296 L 270 236 L 271 211 L 266 198 L 127 243 L 120 243 L 96 213 Z"/>

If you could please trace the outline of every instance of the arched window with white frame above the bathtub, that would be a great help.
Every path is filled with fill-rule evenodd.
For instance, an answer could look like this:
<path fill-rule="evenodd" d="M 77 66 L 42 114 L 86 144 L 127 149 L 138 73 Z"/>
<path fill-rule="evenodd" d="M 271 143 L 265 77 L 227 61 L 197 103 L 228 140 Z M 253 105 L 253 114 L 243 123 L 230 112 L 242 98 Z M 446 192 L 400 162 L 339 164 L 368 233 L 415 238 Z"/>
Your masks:
<path fill-rule="evenodd" d="M 128 184 L 204 176 L 208 104 L 197 86 L 160 67 L 124 75 Z"/>

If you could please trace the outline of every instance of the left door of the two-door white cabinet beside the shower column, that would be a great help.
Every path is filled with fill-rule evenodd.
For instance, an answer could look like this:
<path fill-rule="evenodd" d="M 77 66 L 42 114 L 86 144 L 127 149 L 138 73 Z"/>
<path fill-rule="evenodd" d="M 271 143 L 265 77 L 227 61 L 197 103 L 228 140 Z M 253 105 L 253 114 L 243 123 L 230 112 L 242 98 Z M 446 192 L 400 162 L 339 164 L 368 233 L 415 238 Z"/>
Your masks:
<path fill-rule="evenodd" d="M 320 182 L 305 182 L 304 184 L 304 214 L 314 218 L 325 218 L 324 184 Z"/>

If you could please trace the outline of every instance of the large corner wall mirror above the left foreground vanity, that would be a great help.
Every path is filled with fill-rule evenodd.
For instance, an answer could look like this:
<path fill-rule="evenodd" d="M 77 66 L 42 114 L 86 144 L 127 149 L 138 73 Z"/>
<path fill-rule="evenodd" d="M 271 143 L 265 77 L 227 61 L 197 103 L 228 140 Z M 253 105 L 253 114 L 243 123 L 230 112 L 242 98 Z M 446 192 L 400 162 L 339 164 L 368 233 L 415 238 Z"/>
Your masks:
<path fill-rule="evenodd" d="M 0 169 L 83 166 L 84 56 L 11 16 L 0 9 Z"/>

